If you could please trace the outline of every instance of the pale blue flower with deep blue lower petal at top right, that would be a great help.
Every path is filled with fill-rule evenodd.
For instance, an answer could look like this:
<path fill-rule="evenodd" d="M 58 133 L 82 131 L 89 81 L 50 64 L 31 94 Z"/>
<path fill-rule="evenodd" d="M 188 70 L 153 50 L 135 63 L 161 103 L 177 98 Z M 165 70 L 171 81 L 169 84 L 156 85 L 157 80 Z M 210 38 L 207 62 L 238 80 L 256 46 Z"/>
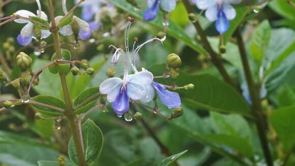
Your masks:
<path fill-rule="evenodd" d="M 220 34 L 229 28 L 229 20 L 235 18 L 235 10 L 230 4 L 240 4 L 242 0 L 196 0 L 197 7 L 206 10 L 209 21 L 216 21 L 215 27 Z"/>

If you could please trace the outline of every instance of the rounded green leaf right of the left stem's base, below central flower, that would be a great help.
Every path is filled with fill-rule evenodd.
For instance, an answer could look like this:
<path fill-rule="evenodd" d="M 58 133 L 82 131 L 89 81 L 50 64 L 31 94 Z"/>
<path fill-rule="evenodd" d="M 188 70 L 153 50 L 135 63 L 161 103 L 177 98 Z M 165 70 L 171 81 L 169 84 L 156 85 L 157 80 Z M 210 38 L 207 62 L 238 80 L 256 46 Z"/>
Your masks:
<path fill-rule="evenodd" d="M 87 164 L 91 165 L 100 155 L 103 135 L 100 128 L 90 119 L 82 124 L 83 147 Z M 78 165 L 78 158 L 73 138 L 69 142 L 69 157 Z"/>

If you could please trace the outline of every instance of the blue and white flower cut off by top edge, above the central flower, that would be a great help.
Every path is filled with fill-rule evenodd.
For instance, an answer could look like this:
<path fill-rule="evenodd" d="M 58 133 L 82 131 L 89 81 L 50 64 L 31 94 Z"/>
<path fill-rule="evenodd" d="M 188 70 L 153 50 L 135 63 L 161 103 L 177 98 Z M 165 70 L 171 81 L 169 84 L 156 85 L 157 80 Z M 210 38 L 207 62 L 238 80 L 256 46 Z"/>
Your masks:
<path fill-rule="evenodd" d="M 176 7 L 176 0 L 147 0 L 149 9 L 143 12 L 143 19 L 145 21 L 154 20 L 159 13 L 159 5 L 164 11 L 171 12 Z"/>

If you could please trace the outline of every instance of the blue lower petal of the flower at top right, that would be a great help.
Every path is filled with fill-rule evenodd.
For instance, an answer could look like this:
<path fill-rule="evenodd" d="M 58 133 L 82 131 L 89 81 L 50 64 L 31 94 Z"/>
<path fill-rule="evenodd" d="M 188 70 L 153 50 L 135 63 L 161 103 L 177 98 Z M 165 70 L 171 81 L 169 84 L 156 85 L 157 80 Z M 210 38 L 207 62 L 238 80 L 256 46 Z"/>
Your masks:
<path fill-rule="evenodd" d="M 218 9 L 215 27 L 220 34 L 224 34 L 224 32 L 226 32 L 229 28 L 229 21 L 223 12 L 223 8 Z"/>

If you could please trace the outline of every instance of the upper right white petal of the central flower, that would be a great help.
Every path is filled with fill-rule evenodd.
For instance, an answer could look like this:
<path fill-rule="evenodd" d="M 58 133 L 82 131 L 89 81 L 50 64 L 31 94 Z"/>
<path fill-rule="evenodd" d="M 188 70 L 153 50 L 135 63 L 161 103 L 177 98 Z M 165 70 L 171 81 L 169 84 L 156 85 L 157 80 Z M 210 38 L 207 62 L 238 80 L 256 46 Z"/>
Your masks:
<path fill-rule="evenodd" d="M 149 71 L 142 71 L 128 76 L 128 82 L 136 83 L 139 85 L 151 84 L 154 76 Z"/>

